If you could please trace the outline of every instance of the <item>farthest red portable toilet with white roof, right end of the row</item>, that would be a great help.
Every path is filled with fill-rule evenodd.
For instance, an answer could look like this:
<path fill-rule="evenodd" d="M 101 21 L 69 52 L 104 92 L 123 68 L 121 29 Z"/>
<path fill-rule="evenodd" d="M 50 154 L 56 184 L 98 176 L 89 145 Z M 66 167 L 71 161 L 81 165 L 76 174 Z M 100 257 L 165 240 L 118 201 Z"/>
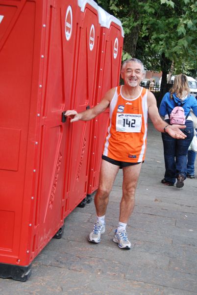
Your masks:
<path fill-rule="evenodd" d="M 100 21 L 100 44 L 98 56 L 98 79 L 95 104 L 111 88 L 117 87 L 123 51 L 123 27 L 121 21 L 98 8 Z M 109 122 L 109 109 L 93 120 L 90 150 L 89 179 L 87 200 L 97 190 L 104 139 Z"/>

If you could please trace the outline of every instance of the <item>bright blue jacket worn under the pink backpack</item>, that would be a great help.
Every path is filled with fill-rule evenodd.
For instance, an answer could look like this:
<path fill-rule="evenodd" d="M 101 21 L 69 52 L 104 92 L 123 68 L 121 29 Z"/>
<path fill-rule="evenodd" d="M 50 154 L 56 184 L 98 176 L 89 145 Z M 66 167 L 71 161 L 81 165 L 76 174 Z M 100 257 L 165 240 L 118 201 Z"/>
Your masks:
<path fill-rule="evenodd" d="M 182 100 L 178 98 L 175 93 L 173 93 L 172 95 L 173 95 L 174 101 L 178 103 L 178 106 L 181 106 Z M 165 117 L 165 115 L 168 114 L 167 107 L 168 107 L 169 113 L 171 114 L 173 108 L 176 106 L 173 99 L 170 99 L 170 92 L 167 92 L 164 95 L 159 107 L 159 114 L 161 116 Z M 192 109 L 195 116 L 197 117 L 197 99 L 193 95 L 190 95 L 183 100 L 182 107 L 185 111 L 185 116 L 187 116 L 187 114 L 190 112 L 190 109 Z"/>

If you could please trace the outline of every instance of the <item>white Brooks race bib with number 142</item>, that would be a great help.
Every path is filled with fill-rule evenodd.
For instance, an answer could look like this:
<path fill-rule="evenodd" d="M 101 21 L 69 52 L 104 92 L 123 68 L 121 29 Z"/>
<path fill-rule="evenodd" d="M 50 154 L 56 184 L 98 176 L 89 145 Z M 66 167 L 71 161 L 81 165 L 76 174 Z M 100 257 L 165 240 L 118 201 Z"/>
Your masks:
<path fill-rule="evenodd" d="M 142 115 L 116 114 L 116 131 L 120 132 L 141 132 Z"/>

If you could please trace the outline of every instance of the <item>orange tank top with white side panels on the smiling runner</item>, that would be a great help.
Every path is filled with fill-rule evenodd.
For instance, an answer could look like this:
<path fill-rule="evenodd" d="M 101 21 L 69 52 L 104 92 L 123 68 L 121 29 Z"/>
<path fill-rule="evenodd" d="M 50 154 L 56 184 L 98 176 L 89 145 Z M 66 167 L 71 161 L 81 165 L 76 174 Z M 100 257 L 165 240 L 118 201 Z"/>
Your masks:
<path fill-rule="evenodd" d="M 116 88 L 109 107 L 109 125 L 103 155 L 123 162 L 142 162 L 147 147 L 147 92 L 142 88 L 138 97 L 126 99 L 122 87 Z"/>

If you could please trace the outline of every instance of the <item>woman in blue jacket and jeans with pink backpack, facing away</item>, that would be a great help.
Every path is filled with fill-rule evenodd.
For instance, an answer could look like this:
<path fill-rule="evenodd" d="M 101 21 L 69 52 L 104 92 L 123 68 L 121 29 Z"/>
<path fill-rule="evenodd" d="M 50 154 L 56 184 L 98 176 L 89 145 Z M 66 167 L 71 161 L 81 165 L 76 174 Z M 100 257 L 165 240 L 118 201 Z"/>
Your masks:
<path fill-rule="evenodd" d="M 173 109 L 175 107 L 182 107 L 183 109 L 178 108 L 179 110 L 174 112 Z M 192 117 L 190 116 L 190 109 L 192 109 L 197 116 L 197 100 L 190 94 L 187 76 L 180 74 L 174 78 L 174 84 L 170 92 L 164 95 L 159 108 L 159 114 L 165 117 L 164 120 L 166 120 L 168 124 L 180 124 L 180 120 L 182 120 L 182 124 L 186 125 L 186 128 L 182 129 L 183 133 L 187 135 L 185 139 L 174 139 L 167 132 L 162 133 L 166 171 L 164 179 L 162 179 L 161 182 L 173 186 L 177 179 L 176 187 L 178 188 L 183 187 L 183 181 L 186 179 L 187 152 L 194 137 L 194 127 Z M 183 114 L 183 118 L 180 118 L 180 113 Z M 177 115 L 179 115 L 178 118 L 176 117 Z M 170 117 L 172 117 L 171 120 Z"/>

